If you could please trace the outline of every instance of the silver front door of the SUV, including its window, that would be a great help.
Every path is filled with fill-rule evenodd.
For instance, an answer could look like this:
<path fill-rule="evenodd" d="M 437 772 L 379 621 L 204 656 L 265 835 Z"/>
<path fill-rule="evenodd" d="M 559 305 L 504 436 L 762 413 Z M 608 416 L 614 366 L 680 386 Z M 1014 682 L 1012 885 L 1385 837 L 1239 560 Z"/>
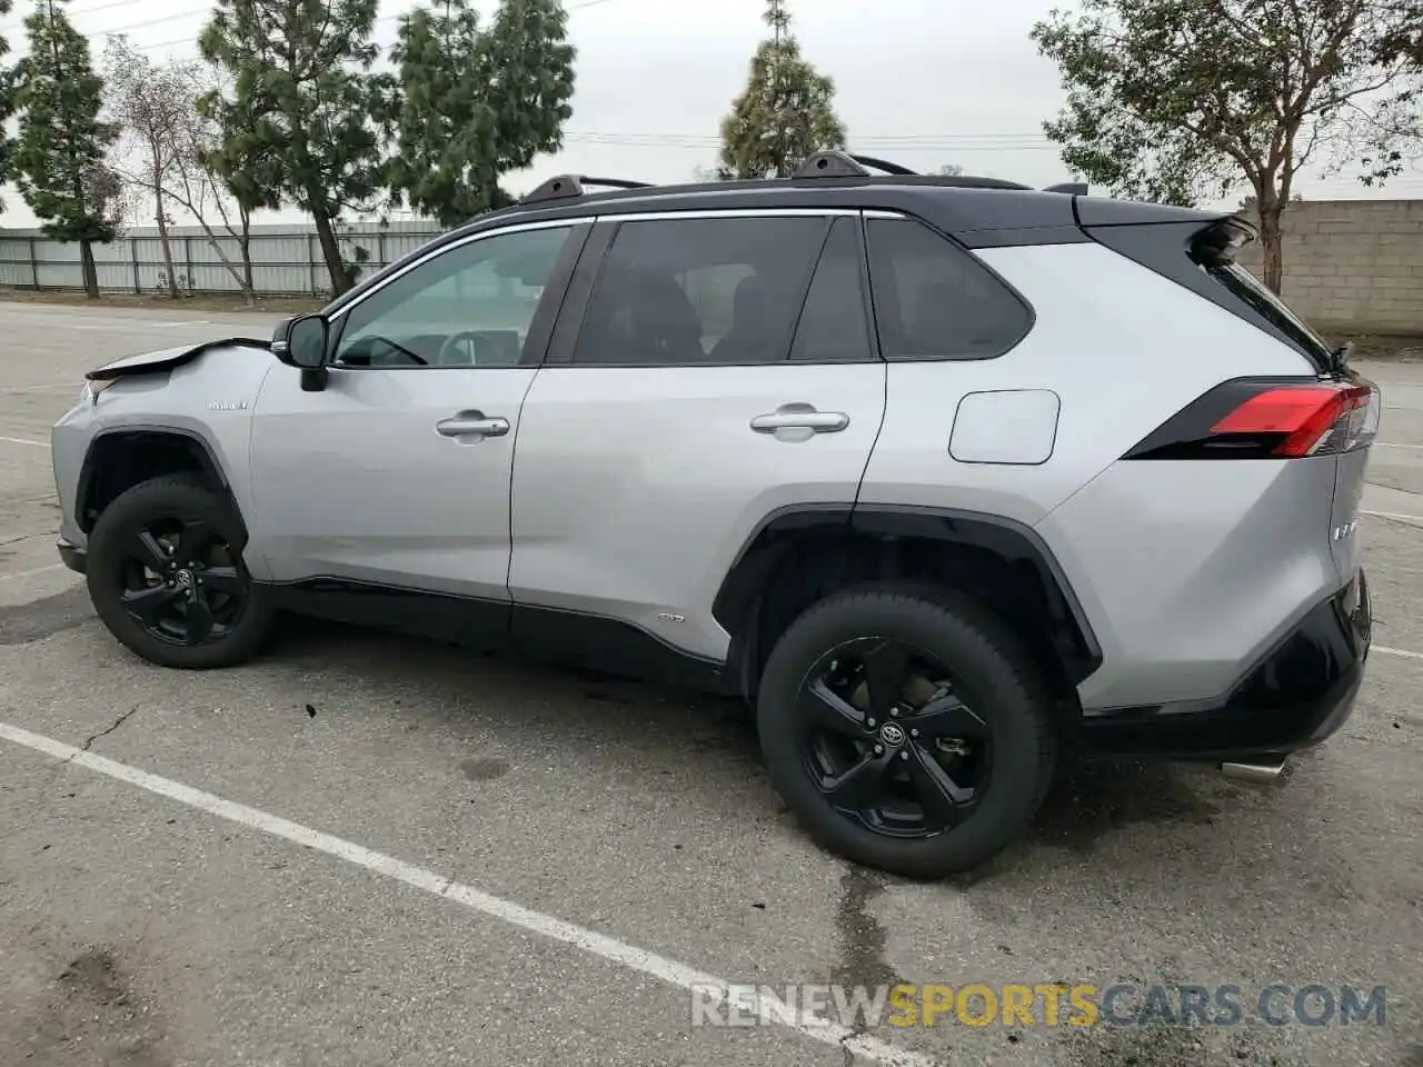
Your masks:
<path fill-rule="evenodd" d="M 586 229 L 440 249 L 337 312 L 324 388 L 268 376 L 249 526 L 272 580 L 508 600 L 519 407 Z"/>

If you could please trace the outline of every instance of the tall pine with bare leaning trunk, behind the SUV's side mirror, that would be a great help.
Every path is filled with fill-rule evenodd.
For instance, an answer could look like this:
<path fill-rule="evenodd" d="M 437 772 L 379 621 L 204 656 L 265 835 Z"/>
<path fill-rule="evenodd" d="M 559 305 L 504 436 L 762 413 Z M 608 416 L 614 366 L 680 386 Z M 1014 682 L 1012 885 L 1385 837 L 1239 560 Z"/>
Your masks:
<path fill-rule="evenodd" d="M 377 0 L 218 0 L 199 47 L 232 75 L 232 97 L 202 101 L 221 129 L 211 162 L 233 186 L 262 175 L 309 212 L 332 290 L 350 289 L 336 223 L 383 191 L 394 80 L 376 74 Z M 250 198 L 259 202 L 258 198 Z"/>

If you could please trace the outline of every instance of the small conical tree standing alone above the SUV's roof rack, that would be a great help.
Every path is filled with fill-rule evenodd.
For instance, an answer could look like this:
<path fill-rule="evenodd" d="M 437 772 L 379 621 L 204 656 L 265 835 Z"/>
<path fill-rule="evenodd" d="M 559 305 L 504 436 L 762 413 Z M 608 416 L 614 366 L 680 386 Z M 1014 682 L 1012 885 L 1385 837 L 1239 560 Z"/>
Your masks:
<path fill-rule="evenodd" d="M 746 91 L 721 121 L 721 168 L 737 178 L 784 178 L 810 155 L 845 147 L 835 85 L 801 57 L 784 0 L 767 0 L 773 36 L 751 58 Z"/>

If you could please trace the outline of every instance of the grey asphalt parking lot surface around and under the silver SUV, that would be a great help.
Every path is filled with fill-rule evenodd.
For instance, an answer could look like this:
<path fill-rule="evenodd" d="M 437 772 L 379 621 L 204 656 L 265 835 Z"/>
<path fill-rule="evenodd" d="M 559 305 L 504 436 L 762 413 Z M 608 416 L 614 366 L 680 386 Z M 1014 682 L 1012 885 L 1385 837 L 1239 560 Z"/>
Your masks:
<path fill-rule="evenodd" d="M 98 363 L 272 322 L 0 304 L 0 1064 L 1423 1067 L 1423 364 L 1359 364 L 1387 444 L 1345 730 L 1264 788 L 1072 770 L 1019 846 L 919 885 L 810 845 L 714 700 L 323 623 L 223 673 L 124 652 L 57 563 L 48 425 Z M 1386 1013 L 841 1040 L 693 1027 L 710 976 Z"/>

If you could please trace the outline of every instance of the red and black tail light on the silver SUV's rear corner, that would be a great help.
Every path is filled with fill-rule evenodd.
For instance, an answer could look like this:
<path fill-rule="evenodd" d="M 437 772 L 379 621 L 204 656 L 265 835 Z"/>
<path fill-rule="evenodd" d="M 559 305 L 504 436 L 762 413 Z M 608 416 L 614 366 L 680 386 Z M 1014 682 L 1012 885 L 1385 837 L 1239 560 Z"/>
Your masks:
<path fill-rule="evenodd" d="M 1379 432 L 1377 387 L 1346 381 L 1235 378 L 1192 401 L 1126 460 L 1298 460 L 1368 448 Z"/>

